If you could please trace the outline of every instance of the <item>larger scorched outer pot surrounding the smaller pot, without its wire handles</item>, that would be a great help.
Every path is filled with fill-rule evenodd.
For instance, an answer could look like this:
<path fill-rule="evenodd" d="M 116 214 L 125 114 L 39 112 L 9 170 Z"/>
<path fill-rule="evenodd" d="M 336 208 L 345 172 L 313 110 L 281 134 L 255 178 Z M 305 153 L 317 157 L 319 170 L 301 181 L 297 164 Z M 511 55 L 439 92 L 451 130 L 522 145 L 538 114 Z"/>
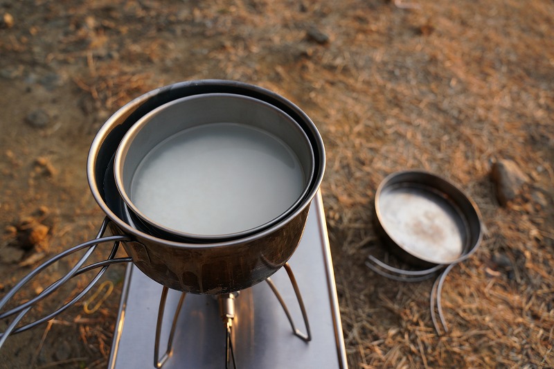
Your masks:
<path fill-rule="evenodd" d="M 172 100 L 202 93 L 235 93 L 267 102 L 292 117 L 303 129 L 314 153 L 314 175 L 298 206 L 285 219 L 259 233 L 236 240 L 193 244 L 166 240 L 136 224 L 117 192 L 113 161 L 129 130 L 149 111 Z M 323 179 L 325 150 L 312 120 L 276 93 L 241 82 L 203 80 L 162 87 L 132 100 L 100 128 L 89 151 L 87 175 L 94 199 L 111 219 L 114 234 L 132 237 L 125 250 L 136 267 L 157 282 L 194 294 L 223 294 L 265 280 L 289 260 L 305 226 L 310 202 Z"/>

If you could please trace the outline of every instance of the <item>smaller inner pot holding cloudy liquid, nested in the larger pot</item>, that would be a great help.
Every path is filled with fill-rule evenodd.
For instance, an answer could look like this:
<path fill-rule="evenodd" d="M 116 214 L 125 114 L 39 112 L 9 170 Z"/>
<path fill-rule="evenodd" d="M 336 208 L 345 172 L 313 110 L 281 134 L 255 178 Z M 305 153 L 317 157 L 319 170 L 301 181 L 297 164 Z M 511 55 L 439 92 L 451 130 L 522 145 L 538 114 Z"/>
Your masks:
<path fill-rule="evenodd" d="M 231 93 L 150 111 L 125 134 L 114 161 L 120 195 L 139 222 L 190 242 L 275 224 L 298 206 L 313 172 L 310 141 L 288 114 Z"/>

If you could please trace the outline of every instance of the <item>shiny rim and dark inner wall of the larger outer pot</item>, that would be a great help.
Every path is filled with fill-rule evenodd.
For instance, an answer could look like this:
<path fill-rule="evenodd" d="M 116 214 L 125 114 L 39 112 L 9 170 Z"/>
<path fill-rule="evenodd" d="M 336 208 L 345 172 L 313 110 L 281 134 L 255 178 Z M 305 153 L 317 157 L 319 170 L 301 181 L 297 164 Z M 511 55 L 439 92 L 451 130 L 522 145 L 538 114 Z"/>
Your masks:
<path fill-rule="evenodd" d="M 145 102 L 149 100 L 154 100 L 157 97 L 163 95 L 164 93 L 171 93 L 172 91 L 177 91 L 179 89 L 191 89 L 191 90 L 196 89 L 197 90 L 196 93 L 193 91 L 188 95 L 184 95 L 184 96 L 194 96 L 194 95 L 200 95 L 202 93 L 207 93 L 207 92 L 202 92 L 202 90 L 204 89 L 214 89 L 218 87 L 222 87 L 226 91 L 229 91 L 229 90 L 236 91 L 231 93 L 236 93 L 238 95 L 250 96 L 250 95 L 244 94 L 244 92 L 247 91 L 247 92 L 253 93 L 256 96 L 263 96 L 264 98 L 267 98 L 267 100 L 262 100 L 262 101 L 268 102 L 270 105 L 274 105 L 274 103 L 284 105 L 288 109 L 291 109 L 292 111 L 294 111 L 294 114 L 297 115 L 299 119 L 303 120 L 303 123 L 305 123 L 310 128 L 310 137 L 309 137 L 310 142 L 312 142 L 312 145 L 315 145 L 313 147 L 314 157 L 316 159 L 319 159 L 319 161 L 317 160 L 314 161 L 314 176 L 312 178 L 312 183 L 310 183 L 310 186 L 308 188 L 307 194 L 302 199 L 301 203 L 298 204 L 298 206 L 292 211 L 292 213 L 290 213 L 288 217 L 285 217 L 285 219 L 281 220 L 280 222 L 277 222 L 276 224 L 273 224 L 269 228 L 266 228 L 260 231 L 259 233 L 255 233 L 247 237 L 237 238 L 234 240 L 225 240 L 225 241 L 211 242 L 206 244 L 193 244 L 188 242 L 177 242 L 172 240 L 161 239 L 158 237 L 154 237 L 148 233 L 139 231 L 139 229 L 133 228 L 132 226 L 127 224 L 127 222 L 123 221 L 123 219 L 120 218 L 120 215 L 116 215 L 114 211 L 112 211 L 111 208 L 109 208 L 106 200 L 104 199 L 104 197 L 102 197 L 102 194 L 100 193 L 98 176 L 96 175 L 96 170 L 97 170 L 96 164 L 98 162 L 98 154 L 100 150 L 102 150 L 102 145 L 105 143 L 105 141 L 107 141 L 107 137 L 109 136 L 109 134 L 113 132 L 114 129 L 122 127 L 123 123 L 125 123 L 125 119 L 129 118 L 129 116 L 131 116 L 132 113 L 136 111 L 136 109 L 139 109 L 139 107 L 141 107 L 141 105 L 143 105 Z M 176 98 L 173 98 L 172 100 L 176 100 L 177 98 L 181 98 L 184 96 L 178 96 Z M 168 100 L 168 101 L 171 101 L 171 100 Z M 145 114 L 148 114 L 148 112 Z M 298 123 L 298 120 L 294 118 L 294 116 L 292 118 L 296 120 Z M 134 123 L 136 123 L 136 121 L 133 122 L 133 124 Z M 302 127 L 302 128 L 305 130 L 305 127 Z M 109 154 L 112 154 L 112 155 L 115 154 L 116 150 L 117 150 L 117 147 L 115 147 L 114 151 Z M 102 169 L 105 170 L 105 168 L 102 168 Z M 283 96 L 278 95 L 277 93 L 274 93 L 272 91 L 269 91 L 267 89 L 264 89 L 262 87 L 258 87 L 252 84 L 231 81 L 231 80 L 194 80 L 194 81 L 186 81 L 186 82 L 177 82 L 175 84 L 169 84 L 165 87 L 159 87 L 158 89 L 154 89 L 152 91 L 144 93 L 143 95 L 137 98 L 134 98 L 134 100 L 131 100 L 130 102 L 127 102 L 127 104 L 123 105 L 123 107 L 120 107 L 120 109 L 118 109 L 112 116 L 110 116 L 106 120 L 106 122 L 102 125 L 102 127 L 100 127 L 100 129 L 98 130 L 96 136 L 94 137 L 91 143 L 91 147 L 89 149 L 89 154 L 87 157 L 87 178 L 89 181 L 89 188 L 92 192 L 94 199 L 96 200 L 96 203 L 100 206 L 100 208 L 107 215 L 107 217 L 109 217 L 111 222 L 114 222 L 116 226 L 118 226 L 122 231 L 124 231 L 129 235 L 134 235 L 136 237 L 143 238 L 150 242 L 158 242 L 166 246 L 175 247 L 175 248 L 190 247 L 195 249 L 208 249 L 208 248 L 214 248 L 214 247 L 234 246 L 237 244 L 252 242 L 252 241 L 258 240 L 260 237 L 265 237 L 267 235 L 270 235 L 271 233 L 274 233 L 274 231 L 276 231 L 278 228 L 281 228 L 282 226 L 287 224 L 287 222 L 289 222 L 291 219 L 298 217 L 298 215 L 301 214 L 303 209 L 306 206 L 310 205 L 312 199 L 316 195 L 316 192 L 319 190 L 319 186 L 321 185 L 321 181 L 323 179 L 323 172 L 325 172 L 325 148 L 323 146 L 323 140 L 321 138 L 321 134 L 319 134 L 319 131 L 316 129 L 312 120 L 300 108 L 294 105 L 294 103 L 290 102 Z M 103 183 L 103 178 L 101 180 Z"/>

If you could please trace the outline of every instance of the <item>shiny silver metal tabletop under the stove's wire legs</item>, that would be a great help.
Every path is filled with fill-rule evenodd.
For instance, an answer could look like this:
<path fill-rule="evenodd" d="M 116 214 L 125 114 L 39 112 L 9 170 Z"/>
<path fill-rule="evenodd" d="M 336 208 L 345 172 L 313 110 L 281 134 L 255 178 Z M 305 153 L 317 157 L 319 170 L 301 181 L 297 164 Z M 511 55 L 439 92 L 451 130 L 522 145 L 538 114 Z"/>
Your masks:
<path fill-rule="evenodd" d="M 283 308 L 266 282 L 240 292 L 233 321 L 238 369 L 347 368 L 337 291 L 325 216 L 318 192 L 305 232 L 289 260 L 307 310 L 312 341 L 294 336 Z M 271 280 L 283 296 L 296 327 L 305 332 L 301 310 L 285 270 Z M 154 339 L 161 285 L 129 265 L 108 368 L 154 368 Z M 165 352 L 172 316 L 181 293 L 170 290 L 162 327 Z M 225 329 L 213 296 L 188 294 L 163 369 L 225 368 Z"/>

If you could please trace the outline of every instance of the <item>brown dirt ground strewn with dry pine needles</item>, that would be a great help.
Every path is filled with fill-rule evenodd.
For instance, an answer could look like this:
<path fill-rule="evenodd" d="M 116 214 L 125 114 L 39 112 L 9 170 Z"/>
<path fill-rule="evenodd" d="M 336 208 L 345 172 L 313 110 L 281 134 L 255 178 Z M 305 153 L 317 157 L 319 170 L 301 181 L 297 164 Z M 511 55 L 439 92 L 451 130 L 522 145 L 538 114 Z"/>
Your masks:
<path fill-rule="evenodd" d="M 0 296 L 96 234 L 103 216 L 85 166 L 102 123 L 141 93 L 205 78 L 271 89 L 320 129 L 350 368 L 554 367 L 549 0 L 0 0 Z M 490 179 L 501 159 L 526 176 L 506 206 Z M 445 280 L 443 334 L 431 322 L 433 280 L 397 282 L 365 265 L 384 255 L 375 190 L 412 168 L 456 183 L 483 215 L 481 247 Z M 16 302 L 67 268 L 55 264 Z M 78 303 L 11 336 L 0 366 L 105 368 L 123 269 L 102 277 L 100 294 L 114 291 L 96 312 Z M 76 279 L 31 315 L 75 294 L 87 278 Z"/>

